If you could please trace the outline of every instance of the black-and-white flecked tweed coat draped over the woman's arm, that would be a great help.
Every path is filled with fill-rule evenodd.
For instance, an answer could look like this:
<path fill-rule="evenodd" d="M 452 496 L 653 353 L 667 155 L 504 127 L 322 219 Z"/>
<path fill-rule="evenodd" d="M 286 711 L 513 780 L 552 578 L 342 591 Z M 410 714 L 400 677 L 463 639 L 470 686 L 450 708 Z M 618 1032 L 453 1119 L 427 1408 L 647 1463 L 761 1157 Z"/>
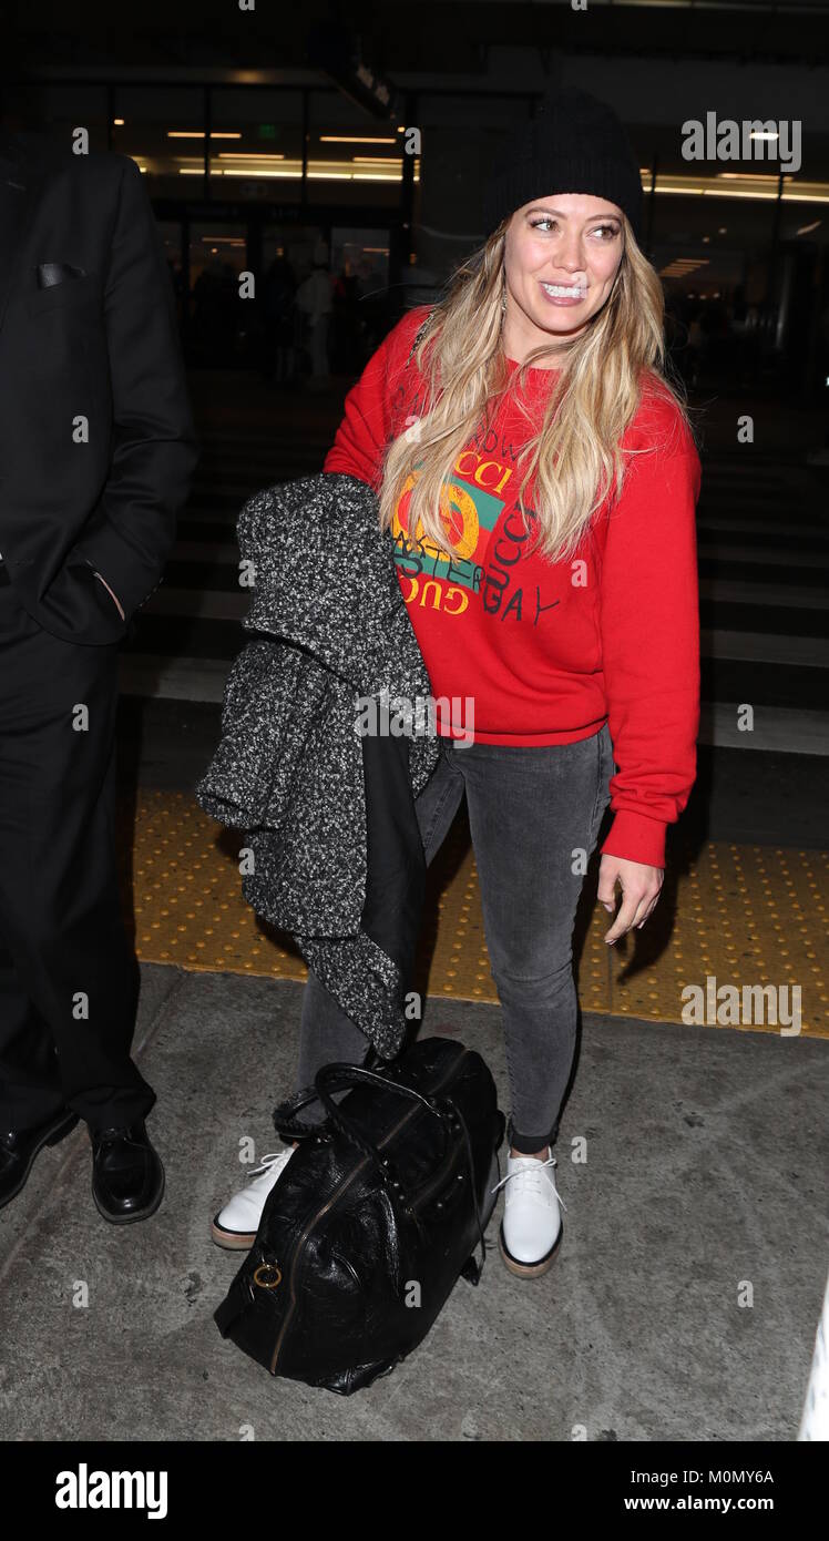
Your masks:
<path fill-rule="evenodd" d="M 425 880 L 413 800 L 438 763 L 424 717 L 430 680 L 393 538 L 381 535 L 373 488 L 339 472 L 256 493 L 237 535 L 253 564 L 243 627 L 254 636 L 230 670 L 222 738 L 196 798 L 245 832 L 248 903 L 293 935 L 348 1017 L 391 1057 L 405 1032 L 410 932 Z M 391 709 L 394 698 L 411 703 L 405 734 L 362 737 L 354 720 L 365 697 Z"/>

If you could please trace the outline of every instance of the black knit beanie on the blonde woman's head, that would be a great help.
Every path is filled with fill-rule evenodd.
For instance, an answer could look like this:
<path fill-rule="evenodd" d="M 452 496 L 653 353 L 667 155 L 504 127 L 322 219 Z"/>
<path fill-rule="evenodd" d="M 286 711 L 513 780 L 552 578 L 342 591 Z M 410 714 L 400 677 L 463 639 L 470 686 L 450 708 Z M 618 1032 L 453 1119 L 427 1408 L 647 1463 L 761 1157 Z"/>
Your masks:
<path fill-rule="evenodd" d="M 639 240 L 643 179 L 612 108 L 575 86 L 547 91 L 535 119 L 513 133 L 484 194 L 485 236 L 533 197 L 592 193 L 616 203 Z"/>

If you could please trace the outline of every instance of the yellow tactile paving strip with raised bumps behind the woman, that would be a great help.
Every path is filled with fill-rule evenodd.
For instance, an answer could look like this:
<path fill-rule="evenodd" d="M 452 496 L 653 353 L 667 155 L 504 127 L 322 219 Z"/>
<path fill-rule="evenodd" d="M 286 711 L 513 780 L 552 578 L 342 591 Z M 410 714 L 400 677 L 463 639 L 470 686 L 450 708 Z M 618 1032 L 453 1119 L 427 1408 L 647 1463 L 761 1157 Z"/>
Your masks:
<path fill-rule="evenodd" d="M 186 792 L 139 794 L 131 888 L 142 960 L 305 979 L 290 938 L 271 932 L 242 900 L 242 844 Z M 717 991 L 770 985 L 786 1016 L 800 988 L 801 1034 L 829 1037 L 827 868 L 826 852 L 707 843 L 669 866 L 647 928 L 613 949 L 602 942 L 610 917 L 586 885 L 573 943 L 582 1011 L 681 1023 L 683 989 L 695 985 L 703 1025 L 780 1032 L 781 1023 L 766 1020 L 767 1008 L 764 1020 L 746 1011 L 735 1022 L 715 1020 Z M 126 866 L 123 880 L 128 898 Z M 595 892 L 595 880 L 592 886 Z M 462 818 L 430 868 L 418 985 L 431 997 L 498 1000 Z"/>

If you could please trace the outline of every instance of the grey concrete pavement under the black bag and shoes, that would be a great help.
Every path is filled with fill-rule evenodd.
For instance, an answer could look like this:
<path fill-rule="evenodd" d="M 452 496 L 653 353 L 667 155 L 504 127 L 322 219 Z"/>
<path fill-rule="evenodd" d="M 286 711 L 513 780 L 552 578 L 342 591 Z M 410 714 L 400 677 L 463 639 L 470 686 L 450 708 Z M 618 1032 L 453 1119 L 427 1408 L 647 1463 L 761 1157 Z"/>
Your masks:
<path fill-rule="evenodd" d="M 341 1399 L 273 1381 L 213 1311 L 240 1254 L 210 1219 L 279 1148 L 302 985 L 145 965 L 139 1063 L 159 1094 L 159 1213 L 100 1219 L 79 1128 L 0 1217 L 0 1436 L 237 1441 L 790 1441 L 824 1273 L 826 1046 L 586 1017 L 556 1147 L 559 1261 L 521 1282 L 487 1233 L 425 1342 Z M 427 1005 L 505 1105 L 499 1008 Z M 570 1159 L 587 1140 L 587 1162 Z M 259 1159 L 259 1157 L 257 1157 Z M 752 1304 L 741 1304 L 747 1299 Z"/>

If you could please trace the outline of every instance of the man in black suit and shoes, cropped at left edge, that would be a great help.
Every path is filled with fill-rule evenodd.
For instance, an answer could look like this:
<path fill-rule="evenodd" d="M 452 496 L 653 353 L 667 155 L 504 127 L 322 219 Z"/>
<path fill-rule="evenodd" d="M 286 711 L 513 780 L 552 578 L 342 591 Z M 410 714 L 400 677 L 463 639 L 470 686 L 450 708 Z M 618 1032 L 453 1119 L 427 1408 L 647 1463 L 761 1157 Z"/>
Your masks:
<path fill-rule="evenodd" d="M 105 1219 L 162 1200 L 129 1057 L 117 661 L 197 458 L 137 165 L 0 123 L 0 1207 L 79 1119 Z"/>

